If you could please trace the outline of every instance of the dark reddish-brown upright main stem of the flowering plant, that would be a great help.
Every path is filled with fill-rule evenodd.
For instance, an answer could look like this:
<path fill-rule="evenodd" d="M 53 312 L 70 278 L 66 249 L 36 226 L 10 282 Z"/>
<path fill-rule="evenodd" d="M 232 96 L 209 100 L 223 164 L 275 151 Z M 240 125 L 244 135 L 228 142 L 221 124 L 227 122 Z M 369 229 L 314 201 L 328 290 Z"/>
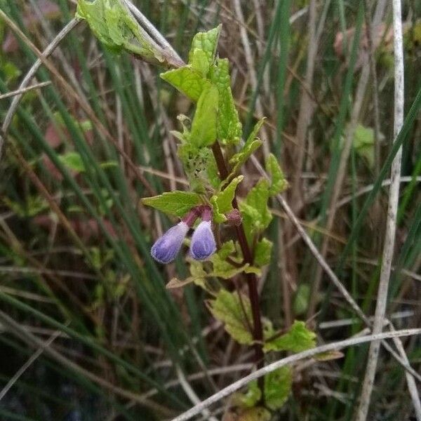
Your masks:
<path fill-rule="evenodd" d="M 220 173 L 221 180 L 225 180 L 229 171 L 227 164 L 225 163 L 224 156 L 220 144 L 215 142 L 212 145 L 213 155 L 215 156 L 215 161 L 218 166 L 218 171 Z M 238 209 L 239 205 L 234 194 L 234 199 L 232 201 L 232 207 Z M 244 232 L 243 224 L 236 226 L 236 236 L 239 240 L 239 245 L 241 247 L 241 252 L 243 253 L 243 259 L 245 263 L 253 265 L 253 253 L 248 246 L 246 239 L 246 233 Z M 255 350 L 255 364 L 258 369 L 264 366 L 264 355 L 262 350 L 263 342 L 263 330 L 262 330 L 262 320 L 260 317 L 260 307 L 259 307 L 259 292 L 258 292 L 258 279 L 255 274 L 246 274 L 246 281 L 248 286 L 248 297 L 250 298 L 251 312 L 253 315 L 253 340 L 255 340 L 254 350 Z M 258 385 L 262 391 L 262 399 L 264 399 L 264 379 L 260 377 L 258 379 Z"/>

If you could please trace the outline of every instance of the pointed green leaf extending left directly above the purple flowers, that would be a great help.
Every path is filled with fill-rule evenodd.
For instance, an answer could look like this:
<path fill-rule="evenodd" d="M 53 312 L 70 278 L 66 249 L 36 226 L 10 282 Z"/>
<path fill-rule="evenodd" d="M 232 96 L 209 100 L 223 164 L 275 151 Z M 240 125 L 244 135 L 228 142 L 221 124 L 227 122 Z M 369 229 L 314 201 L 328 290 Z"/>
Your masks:
<path fill-rule="evenodd" d="M 159 196 L 145 197 L 141 201 L 144 205 L 152 206 L 152 208 L 161 210 L 161 212 L 180 218 L 191 208 L 201 204 L 199 194 L 194 192 L 180 192 L 179 190 L 159 194 Z"/>

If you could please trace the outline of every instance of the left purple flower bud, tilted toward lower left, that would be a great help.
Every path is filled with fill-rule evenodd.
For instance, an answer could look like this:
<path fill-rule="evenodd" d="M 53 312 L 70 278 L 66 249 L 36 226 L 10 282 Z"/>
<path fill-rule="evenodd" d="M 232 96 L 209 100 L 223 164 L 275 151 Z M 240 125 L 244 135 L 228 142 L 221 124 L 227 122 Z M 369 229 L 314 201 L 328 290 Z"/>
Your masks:
<path fill-rule="evenodd" d="M 189 226 L 181 221 L 159 237 L 151 248 L 152 258 L 160 263 L 169 263 L 175 259 L 180 251 L 182 241 L 189 231 Z"/>

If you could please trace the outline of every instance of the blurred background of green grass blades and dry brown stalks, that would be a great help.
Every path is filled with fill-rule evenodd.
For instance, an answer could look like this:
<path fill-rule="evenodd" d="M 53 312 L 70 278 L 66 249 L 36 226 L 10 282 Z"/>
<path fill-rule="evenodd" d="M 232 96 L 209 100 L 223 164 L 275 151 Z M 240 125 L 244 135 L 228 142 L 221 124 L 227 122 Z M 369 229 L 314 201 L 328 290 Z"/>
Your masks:
<path fill-rule="evenodd" d="M 290 182 L 284 199 L 373 315 L 394 138 L 392 2 L 133 3 L 182 58 L 197 31 L 222 22 L 218 51 L 230 60 L 245 135 L 267 116 L 256 157 L 276 154 Z M 0 0 L 2 123 L 13 91 L 75 6 Z M 414 102 L 415 114 L 402 138 L 387 316 L 395 328 L 413 328 L 421 321 L 420 1 L 402 2 L 402 20 L 405 115 Z M 183 259 L 162 267 L 149 254 L 172 221 L 139 200 L 188 188 L 170 131 L 192 104 L 159 79 L 162 69 L 107 51 L 84 22 L 47 61 L 0 154 L 0 419 L 170 419 L 246 375 L 252 360 L 212 319 L 200 290 L 166 290 L 186 275 Z M 252 164 L 244 171 L 250 185 L 240 196 L 258 177 Z M 359 333 L 363 323 L 279 203 L 272 212 L 262 313 L 281 329 L 308 321 L 319 344 Z M 420 339 L 403 345 L 419 373 Z M 275 419 L 349 420 L 367 352 L 362 345 L 334 361 L 301 361 Z M 225 406 L 213 406 L 215 416 Z M 368 419 L 416 419 L 405 371 L 385 349 Z"/>

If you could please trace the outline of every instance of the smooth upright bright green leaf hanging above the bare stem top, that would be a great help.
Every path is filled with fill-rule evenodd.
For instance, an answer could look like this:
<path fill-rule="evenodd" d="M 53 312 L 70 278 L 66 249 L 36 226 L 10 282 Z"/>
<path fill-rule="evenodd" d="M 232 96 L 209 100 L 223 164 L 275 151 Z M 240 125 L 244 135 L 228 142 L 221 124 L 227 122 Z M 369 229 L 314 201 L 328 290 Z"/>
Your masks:
<path fill-rule="evenodd" d="M 192 122 L 190 141 L 196 147 L 213 145 L 216 140 L 216 114 L 218 111 L 218 89 L 208 83 L 197 102 Z"/>

